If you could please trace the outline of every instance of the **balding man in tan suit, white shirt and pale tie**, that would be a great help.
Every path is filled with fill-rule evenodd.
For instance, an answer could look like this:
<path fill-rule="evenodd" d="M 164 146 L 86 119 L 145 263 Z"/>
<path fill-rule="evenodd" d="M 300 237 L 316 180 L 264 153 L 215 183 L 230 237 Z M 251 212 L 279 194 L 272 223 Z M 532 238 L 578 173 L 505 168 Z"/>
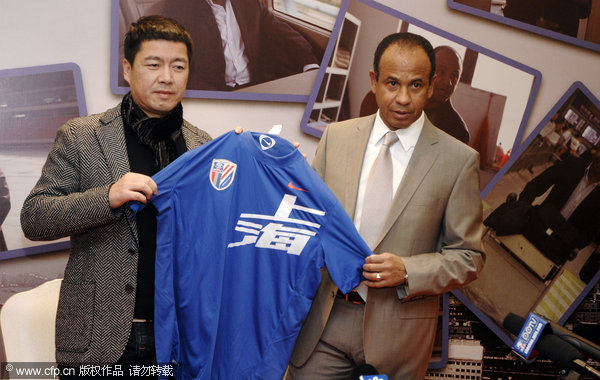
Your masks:
<path fill-rule="evenodd" d="M 386 37 L 370 72 L 378 113 L 331 124 L 323 134 L 313 167 L 361 235 L 377 222 L 362 220 L 363 209 L 379 201 L 365 193 L 389 131 L 398 139 L 389 148 L 395 191 L 370 239 L 376 254 L 363 267 L 366 297 L 339 294 L 324 270 L 292 354 L 291 379 L 350 378 L 365 363 L 390 379 L 422 379 L 439 295 L 473 281 L 483 267 L 479 157 L 423 113 L 434 72 L 427 40 L 410 33 Z"/>

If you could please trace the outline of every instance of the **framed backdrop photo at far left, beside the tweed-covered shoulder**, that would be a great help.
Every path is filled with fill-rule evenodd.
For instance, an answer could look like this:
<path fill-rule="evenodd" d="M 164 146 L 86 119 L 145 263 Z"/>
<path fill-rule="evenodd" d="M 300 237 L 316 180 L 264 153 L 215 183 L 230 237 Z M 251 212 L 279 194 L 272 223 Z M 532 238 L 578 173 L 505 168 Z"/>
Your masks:
<path fill-rule="evenodd" d="M 87 114 L 79 66 L 64 63 L 0 71 L 0 260 L 68 248 L 23 235 L 21 206 L 40 177 L 58 128 Z"/>

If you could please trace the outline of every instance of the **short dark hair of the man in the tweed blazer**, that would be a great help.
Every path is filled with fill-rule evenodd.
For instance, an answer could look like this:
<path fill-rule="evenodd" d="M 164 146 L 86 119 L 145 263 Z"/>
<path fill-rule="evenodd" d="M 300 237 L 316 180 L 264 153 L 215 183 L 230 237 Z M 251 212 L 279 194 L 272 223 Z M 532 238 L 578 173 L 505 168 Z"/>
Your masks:
<path fill-rule="evenodd" d="M 133 65 L 142 42 L 149 40 L 183 42 L 187 47 L 188 60 L 192 60 L 194 45 L 192 36 L 176 20 L 160 15 L 142 16 L 131 24 L 125 34 L 123 46 L 125 59 Z"/>

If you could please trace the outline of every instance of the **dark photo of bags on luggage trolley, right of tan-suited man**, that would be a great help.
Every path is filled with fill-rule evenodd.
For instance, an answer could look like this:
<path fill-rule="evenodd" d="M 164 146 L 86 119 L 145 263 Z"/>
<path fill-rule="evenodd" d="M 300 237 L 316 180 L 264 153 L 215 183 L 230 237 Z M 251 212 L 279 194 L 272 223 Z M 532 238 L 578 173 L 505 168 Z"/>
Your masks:
<path fill-rule="evenodd" d="M 488 261 L 463 292 L 497 322 L 558 321 L 600 268 L 598 102 L 575 88 L 546 120 L 484 198 Z"/>

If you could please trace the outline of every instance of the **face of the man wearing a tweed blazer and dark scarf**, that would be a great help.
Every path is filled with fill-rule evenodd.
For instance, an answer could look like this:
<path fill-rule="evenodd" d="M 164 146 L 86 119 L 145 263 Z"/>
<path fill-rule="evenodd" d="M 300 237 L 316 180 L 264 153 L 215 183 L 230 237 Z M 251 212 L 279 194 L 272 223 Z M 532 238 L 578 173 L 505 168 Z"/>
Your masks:
<path fill-rule="evenodd" d="M 123 76 L 133 101 L 149 117 L 162 117 L 179 104 L 188 74 L 188 52 L 183 42 L 143 41 L 133 64 L 123 60 Z"/>

